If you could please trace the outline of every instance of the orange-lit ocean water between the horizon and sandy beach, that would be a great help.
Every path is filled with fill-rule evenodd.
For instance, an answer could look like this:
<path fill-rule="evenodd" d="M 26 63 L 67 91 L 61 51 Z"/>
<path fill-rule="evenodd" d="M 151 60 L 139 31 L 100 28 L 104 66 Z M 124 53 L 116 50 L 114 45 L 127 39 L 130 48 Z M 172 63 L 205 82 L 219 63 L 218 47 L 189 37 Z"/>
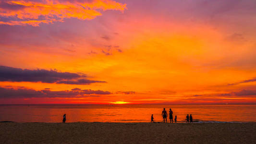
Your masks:
<path fill-rule="evenodd" d="M 178 122 L 192 114 L 195 122 L 256 122 L 256 105 L 0 105 L 0 121 L 15 122 L 162 122 L 173 111 Z M 169 119 L 169 116 L 168 116 Z M 174 118 L 173 118 L 174 119 Z"/>

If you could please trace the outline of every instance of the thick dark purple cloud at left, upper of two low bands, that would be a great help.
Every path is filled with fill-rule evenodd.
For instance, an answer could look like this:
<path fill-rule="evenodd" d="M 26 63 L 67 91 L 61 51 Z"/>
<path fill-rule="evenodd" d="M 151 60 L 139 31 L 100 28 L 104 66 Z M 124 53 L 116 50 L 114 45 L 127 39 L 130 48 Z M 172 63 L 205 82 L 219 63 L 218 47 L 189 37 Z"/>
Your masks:
<path fill-rule="evenodd" d="M 0 82 L 41 82 L 56 84 L 106 83 L 85 79 L 85 74 L 57 72 L 53 70 L 28 70 L 0 66 Z"/>

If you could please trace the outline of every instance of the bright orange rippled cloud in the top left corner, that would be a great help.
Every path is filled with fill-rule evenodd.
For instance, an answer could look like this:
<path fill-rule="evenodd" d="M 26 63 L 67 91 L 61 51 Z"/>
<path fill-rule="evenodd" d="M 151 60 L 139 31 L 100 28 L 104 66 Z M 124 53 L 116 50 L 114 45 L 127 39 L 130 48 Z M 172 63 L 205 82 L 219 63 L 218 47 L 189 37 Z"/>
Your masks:
<path fill-rule="evenodd" d="M 0 3 L 0 24 L 32 25 L 63 22 L 64 18 L 90 20 L 102 15 L 100 11 L 124 11 L 126 4 L 113 0 L 65 1 L 42 0 L 42 2 L 12 0 Z"/>

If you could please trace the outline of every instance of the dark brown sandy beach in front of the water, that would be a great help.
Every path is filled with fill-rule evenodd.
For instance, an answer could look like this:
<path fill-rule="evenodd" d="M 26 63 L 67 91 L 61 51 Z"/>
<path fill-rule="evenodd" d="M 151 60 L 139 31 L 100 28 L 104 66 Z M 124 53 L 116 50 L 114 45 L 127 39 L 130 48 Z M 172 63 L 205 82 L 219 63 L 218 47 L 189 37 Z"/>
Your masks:
<path fill-rule="evenodd" d="M 256 123 L 0 123 L 0 144 L 256 144 Z"/>

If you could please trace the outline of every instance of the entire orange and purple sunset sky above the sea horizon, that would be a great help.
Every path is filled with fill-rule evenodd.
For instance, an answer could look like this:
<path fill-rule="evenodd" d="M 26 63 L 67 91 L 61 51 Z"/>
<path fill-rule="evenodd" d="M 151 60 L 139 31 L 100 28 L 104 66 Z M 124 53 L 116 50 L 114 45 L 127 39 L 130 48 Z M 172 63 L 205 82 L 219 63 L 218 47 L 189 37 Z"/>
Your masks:
<path fill-rule="evenodd" d="M 114 103 L 256 103 L 256 1 L 0 1 L 0 104 Z"/>

